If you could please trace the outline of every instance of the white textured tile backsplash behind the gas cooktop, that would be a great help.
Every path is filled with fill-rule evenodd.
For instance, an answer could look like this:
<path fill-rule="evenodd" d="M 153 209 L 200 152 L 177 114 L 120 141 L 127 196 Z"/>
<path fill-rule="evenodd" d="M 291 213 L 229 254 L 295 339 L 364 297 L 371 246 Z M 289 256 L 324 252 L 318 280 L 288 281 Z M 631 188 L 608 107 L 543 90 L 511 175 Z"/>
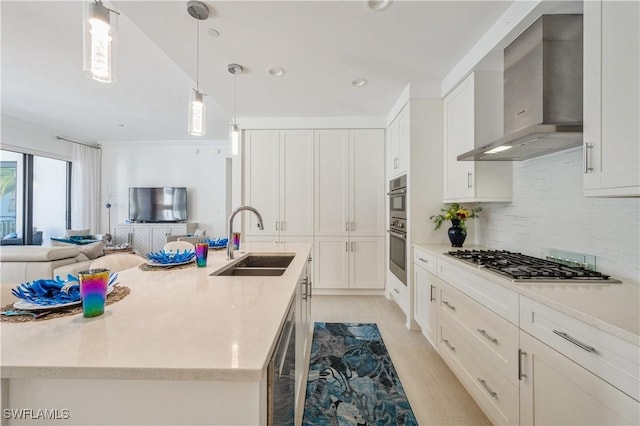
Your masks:
<path fill-rule="evenodd" d="M 595 255 L 597 269 L 640 281 L 640 198 L 582 192 L 582 150 L 513 163 L 511 203 L 482 203 L 475 242 L 544 257 L 558 248 Z"/>

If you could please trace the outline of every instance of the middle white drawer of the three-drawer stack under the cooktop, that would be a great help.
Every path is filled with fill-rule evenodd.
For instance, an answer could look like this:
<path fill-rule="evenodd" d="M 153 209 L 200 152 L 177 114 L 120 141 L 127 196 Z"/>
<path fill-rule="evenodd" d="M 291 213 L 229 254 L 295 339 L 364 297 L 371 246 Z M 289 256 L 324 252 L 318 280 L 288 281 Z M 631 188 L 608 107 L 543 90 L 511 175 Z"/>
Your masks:
<path fill-rule="evenodd" d="M 469 333 L 473 347 L 514 384 L 518 383 L 516 326 L 448 285 L 442 285 L 440 312 Z"/>

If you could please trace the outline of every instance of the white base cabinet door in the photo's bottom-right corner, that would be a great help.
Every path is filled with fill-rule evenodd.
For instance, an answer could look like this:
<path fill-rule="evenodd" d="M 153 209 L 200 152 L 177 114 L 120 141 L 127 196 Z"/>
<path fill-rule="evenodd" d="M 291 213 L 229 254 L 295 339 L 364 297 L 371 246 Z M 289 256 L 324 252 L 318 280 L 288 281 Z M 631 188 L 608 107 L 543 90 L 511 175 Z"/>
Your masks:
<path fill-rule="evenodd" d="M 637 425 L 633 398 L 520 332 L 522 425 Z"/>

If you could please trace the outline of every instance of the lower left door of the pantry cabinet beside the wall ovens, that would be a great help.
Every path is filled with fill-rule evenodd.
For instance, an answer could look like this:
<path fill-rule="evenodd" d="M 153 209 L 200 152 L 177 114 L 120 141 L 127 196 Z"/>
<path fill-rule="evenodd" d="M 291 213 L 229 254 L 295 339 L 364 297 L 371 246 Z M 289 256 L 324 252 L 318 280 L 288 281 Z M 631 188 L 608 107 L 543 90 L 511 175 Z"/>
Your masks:
<path fill-rule="evenodd" d="M 349 241 L 346 237 L 316 237 L 314 288 L 349 288 Z"/>

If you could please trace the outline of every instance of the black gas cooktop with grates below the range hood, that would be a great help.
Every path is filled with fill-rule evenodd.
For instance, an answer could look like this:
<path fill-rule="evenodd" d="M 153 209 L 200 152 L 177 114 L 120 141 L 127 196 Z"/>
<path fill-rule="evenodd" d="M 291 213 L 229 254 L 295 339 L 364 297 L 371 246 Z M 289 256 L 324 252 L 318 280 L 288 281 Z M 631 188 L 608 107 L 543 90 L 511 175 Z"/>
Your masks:
<path fill-rule="evenodd" d="M 566 266 L 546 259 L 506 250 L 455 250 L 450 256 L 487 269 L 513 282 L 620 283 L 609 275 L 582 267 Z"/>

